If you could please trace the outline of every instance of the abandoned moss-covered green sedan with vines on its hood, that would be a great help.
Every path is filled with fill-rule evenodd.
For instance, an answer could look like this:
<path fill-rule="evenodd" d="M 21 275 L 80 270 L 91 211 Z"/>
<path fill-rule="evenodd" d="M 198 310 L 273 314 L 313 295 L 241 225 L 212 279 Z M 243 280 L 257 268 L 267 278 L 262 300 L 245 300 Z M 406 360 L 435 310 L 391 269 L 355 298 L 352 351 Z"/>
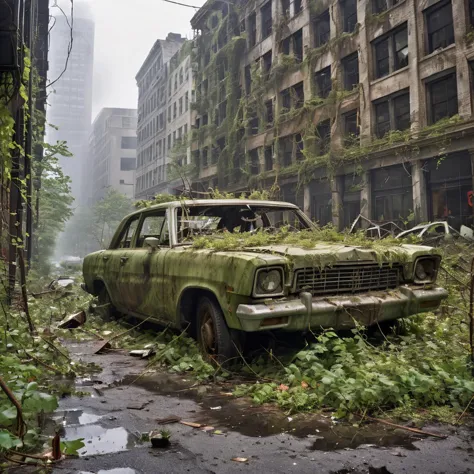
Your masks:
<path fill-rule="evenodd" d="M 247 245 L 219 247 L 227 232 Z M 316 234 L 293 204 L 159 204 L 126 217 L 110 247 L 85 258 L 84 289 L 108 313 L 190 328 L 219 358 L 234 355 L 245 332 L 369 326 L 435 310 L 447 296 L 430 247 L 400 245 L 384 260 L 343 242 L 299 245 Z"/>

